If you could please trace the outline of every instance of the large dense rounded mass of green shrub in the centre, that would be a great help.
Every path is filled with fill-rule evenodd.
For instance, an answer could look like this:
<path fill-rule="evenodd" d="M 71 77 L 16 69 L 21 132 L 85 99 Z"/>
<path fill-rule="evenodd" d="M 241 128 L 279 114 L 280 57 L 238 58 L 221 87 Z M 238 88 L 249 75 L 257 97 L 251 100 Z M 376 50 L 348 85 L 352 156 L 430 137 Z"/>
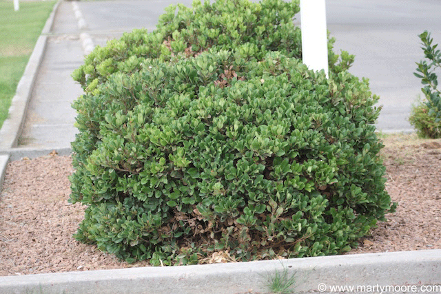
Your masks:
<path fill-rule="evenodd" d="M 215 19 L 229 2 L 196 10 Z M 293 4 L 237 8 L 262 13 L 258 21 L 284 15 L 285 5 Z M 165 14 L 162 24 L 198 23 L 180 15 Z M 159 35 L 161 25 L 143 38 Z M 254 39 L 167 58 L 154 43 L 161 54 L 125 55 L 112 63 L 118 70 L 100 70 L 90 56 L 119 50 L 119 41 L 88 57 L 76 72 L 86 94 L 74 102 L 70 200 L 88 207 L 75 238 L 153 265 L 194 264 L 214 251 L 236 260 L 330 255 L 349 251 L 393 211 L 373 125 L 378 97 L 342 70 L 353 57 L 327 79 L 292 56 L 298 48 L 274 51 Z"/>

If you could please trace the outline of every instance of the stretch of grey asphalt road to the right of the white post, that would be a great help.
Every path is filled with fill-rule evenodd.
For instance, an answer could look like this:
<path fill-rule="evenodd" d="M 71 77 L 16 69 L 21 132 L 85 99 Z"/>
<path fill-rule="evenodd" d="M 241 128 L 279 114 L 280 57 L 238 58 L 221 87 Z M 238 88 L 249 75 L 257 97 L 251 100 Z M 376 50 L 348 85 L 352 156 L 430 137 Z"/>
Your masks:
<path fill-rule="evenodd" d="M 418 34 L 441 43 L 440 0 L 327 0 L 327 27 L 336 48 L 356 56 L 350 72 L 367 77 L 383 105 L 378 129 L 411 129 L 411 105 L 424 98 L 413 72 L 424 58 Z"/>

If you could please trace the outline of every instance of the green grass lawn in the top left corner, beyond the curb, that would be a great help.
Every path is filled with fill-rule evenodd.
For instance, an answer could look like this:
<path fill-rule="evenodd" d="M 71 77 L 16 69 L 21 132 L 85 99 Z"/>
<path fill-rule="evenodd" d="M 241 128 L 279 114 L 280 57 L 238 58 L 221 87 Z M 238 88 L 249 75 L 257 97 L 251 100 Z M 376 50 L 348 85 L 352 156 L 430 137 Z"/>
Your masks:
<path fill-rule="evenodd" d="M 20 1 L 14 11 L 12 1 L 0 0 L 0 127 L 34 45 L 55 1 Z"/>

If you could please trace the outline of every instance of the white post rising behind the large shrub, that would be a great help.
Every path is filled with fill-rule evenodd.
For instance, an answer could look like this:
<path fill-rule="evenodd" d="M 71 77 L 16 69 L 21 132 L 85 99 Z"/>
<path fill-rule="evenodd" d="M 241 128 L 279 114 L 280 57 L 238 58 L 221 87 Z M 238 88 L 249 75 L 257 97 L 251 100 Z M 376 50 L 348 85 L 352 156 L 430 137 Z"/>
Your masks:
<path fill-rule="evenodd" d="M 325 0 L 300 0 L 302 59 L 309 70 L 325 70 L 328 76 L 328 45 Z"/>

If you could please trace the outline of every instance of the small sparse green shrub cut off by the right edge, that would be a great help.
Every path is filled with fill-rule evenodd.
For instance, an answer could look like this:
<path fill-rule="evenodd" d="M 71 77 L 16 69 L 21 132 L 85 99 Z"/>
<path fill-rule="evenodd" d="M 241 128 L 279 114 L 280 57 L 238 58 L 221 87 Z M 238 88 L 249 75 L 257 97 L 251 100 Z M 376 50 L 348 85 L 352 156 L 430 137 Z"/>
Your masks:
<path fill-rule="evenodd" d="M 416 77 L 421 78 L 424 87 L 421 89 L 426 97 L 425 103 L 413 107 L 409 121 L 419 136 L 423 138 L 441 138 L 441 97 L 438 90 L 438 76 L 436 71 L 441 70 L 441 51 L 436 50 L 438 44 L 432 45 L 430 33 L 424 31 L 419 34 L 422 50 L 427 61 L 420 61 Z"/>

